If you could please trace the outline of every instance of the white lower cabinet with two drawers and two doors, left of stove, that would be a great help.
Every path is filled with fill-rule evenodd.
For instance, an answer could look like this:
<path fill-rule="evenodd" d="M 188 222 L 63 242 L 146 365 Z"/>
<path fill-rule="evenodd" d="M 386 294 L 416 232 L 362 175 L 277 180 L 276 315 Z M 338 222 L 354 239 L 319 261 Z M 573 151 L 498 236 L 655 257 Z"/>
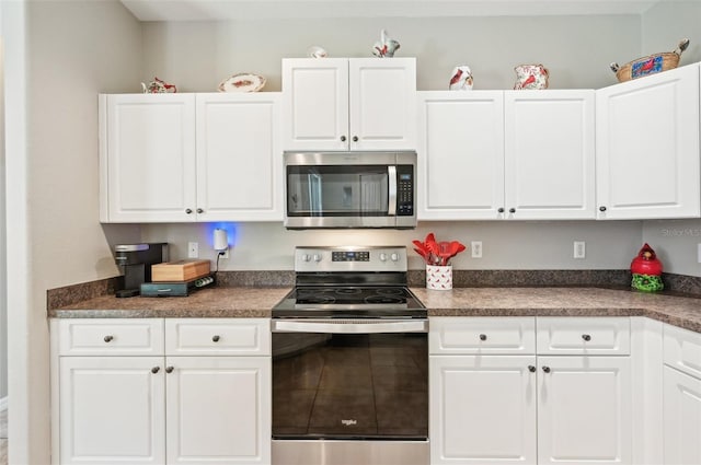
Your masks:
<path fill-rule="evenodd" d="M 175 327 L 196 356 L 165 349 Z M 51 338 L 54 464 L 269 463 L 267 319 L 54 319 Z"/>

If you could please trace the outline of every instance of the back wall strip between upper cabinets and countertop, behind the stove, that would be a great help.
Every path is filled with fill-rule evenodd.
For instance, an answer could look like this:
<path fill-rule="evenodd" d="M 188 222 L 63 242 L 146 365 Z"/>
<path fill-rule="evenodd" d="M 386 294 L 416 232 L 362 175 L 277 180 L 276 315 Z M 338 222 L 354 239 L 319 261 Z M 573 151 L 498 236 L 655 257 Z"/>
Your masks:
<path fill-rule="evenodd" d="M 199 258 L 216 260 L 215 224 L 142 225 L 142 241 L 168 242 L 171 259 L 187 258 L 187 243 L 199 244 Z M 627 269 L 642 245 L 640 221 L 426 222 L 409 231 L 288 231 L 281 223 L 228 223 L 230 258 L 220 270 L 291 270 L 298 245 L 404 245 L 410 269 L 422 269 L 412 240 L 434 232 L 438 241 L 482 241 L 483 257 L 470 251 L 452 260 L 456 269 Z M 586 242 L 586 258 L 575 259 L 574 241 Z M 214 265 L 212 265 L 214 267 Z"/>

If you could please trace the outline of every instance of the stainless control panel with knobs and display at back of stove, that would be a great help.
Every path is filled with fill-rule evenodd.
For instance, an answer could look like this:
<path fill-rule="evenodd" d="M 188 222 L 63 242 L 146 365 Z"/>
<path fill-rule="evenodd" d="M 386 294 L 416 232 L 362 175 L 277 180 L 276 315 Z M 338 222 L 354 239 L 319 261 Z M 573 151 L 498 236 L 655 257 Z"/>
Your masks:
<path fill-rule="evenodd" d="M 406 247 L 297 247 L 295 271 L 406 271 Z"/>

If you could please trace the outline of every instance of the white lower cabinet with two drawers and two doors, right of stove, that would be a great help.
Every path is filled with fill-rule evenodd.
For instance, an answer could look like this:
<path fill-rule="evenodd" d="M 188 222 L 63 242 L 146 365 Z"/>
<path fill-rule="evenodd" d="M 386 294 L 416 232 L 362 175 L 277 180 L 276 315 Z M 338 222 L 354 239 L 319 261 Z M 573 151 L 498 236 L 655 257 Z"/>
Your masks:
<path fill-rule="evenodd" d="M 432 464 L 630 464 L 630 349 L 587 353 L 610 335 L 602 322 L 628 333 L 628 319 L 432 318 Z M 563 332 L 583 341 L 578 352 L 574 336 L 567 356 L 537 352 Z"/>

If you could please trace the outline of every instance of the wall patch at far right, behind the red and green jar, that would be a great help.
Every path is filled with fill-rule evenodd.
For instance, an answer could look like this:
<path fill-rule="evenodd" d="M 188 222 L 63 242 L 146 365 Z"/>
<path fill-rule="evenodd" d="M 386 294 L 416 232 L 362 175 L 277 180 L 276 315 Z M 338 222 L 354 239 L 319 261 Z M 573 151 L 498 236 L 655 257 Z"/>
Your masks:
<path fill-rule="evenodd" d="M 701 277 L 701 220 L 644 221 L 643 242 L 653 247 L 665 272 Z"/>

